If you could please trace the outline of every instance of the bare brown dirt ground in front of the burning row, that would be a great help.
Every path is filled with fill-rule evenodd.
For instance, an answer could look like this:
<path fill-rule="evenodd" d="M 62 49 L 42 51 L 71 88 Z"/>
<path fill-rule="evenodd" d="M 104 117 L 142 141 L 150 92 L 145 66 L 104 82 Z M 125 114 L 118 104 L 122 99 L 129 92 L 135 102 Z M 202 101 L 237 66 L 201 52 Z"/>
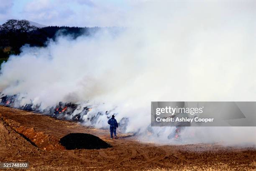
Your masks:
<path fill-rule="evenodd" d="M 112 148 L 66 150 L 59 139 L 69 133 L 100 137 Z M 108 130 L 0 106 L 0 161 L 28 161 L 28 170 L 256 170 L 255 147 L 220 144 L 144 144 Z"/>

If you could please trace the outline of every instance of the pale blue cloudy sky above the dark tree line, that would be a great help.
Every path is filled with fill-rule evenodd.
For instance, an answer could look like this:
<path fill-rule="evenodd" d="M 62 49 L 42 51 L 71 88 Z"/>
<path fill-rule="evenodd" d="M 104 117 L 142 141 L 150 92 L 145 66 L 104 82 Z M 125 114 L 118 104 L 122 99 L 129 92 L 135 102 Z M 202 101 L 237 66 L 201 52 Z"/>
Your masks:
<path fill-rule="evenodd" d="M 26 19 L 43 25 L 122 26 L 134 0 L 0 0 L 0 24 Z"/>

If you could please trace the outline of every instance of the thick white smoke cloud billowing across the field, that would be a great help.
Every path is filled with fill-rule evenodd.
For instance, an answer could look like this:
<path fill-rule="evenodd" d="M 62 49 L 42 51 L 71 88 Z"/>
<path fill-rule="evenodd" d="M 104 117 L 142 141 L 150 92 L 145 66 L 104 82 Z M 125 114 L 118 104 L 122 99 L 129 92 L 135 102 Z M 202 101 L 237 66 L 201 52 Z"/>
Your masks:
<path fill-rule="evenodd" d="M 91 113 L 112 110 L 118 121 L 129 118 L 127 132 L 142 133 L 151 101 L 256 101 L 255 7 L 254 1 L 141 2 L 118 34 L 102 30 L 24 46 L 2 64 L 0 92 L 41 109 L 87 102 Z M 173 143 L 172 129 L 152 128 L 152 140 Z M 187 143 L 256 144 L 251 127 L 186 129 L 184 138 L 195 135 Z"/>

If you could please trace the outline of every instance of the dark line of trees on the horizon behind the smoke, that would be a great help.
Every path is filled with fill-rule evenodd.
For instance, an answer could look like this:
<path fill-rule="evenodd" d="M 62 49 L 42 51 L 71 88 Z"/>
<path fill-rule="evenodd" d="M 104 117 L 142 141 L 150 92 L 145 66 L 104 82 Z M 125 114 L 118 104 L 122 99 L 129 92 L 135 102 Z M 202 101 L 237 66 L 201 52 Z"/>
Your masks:
<path fill-rule="evenodd" d="M 7 20 L 0 26 L 0 58 L 7 58 L 11 54 L 19 54 L 20 47 L 45 46 L 46 41 L 54 39 L 57 33 L 77 38 L 80 35 L 90 35 L 99 27 L 35 27 L 28 20 Z"/>

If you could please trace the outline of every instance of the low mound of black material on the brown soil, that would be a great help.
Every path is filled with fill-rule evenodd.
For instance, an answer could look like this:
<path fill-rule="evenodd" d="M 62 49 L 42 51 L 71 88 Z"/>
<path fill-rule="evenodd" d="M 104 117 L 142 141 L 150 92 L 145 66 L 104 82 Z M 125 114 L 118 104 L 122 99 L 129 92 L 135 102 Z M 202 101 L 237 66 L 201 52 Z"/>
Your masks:
<path fill-rule="evenodd" d="M 63 136 L 60 144 L 67 150 L 74 149 L 106 149 L 112 147 L 102 139 L 92 134 L 72 133 Z"/>

